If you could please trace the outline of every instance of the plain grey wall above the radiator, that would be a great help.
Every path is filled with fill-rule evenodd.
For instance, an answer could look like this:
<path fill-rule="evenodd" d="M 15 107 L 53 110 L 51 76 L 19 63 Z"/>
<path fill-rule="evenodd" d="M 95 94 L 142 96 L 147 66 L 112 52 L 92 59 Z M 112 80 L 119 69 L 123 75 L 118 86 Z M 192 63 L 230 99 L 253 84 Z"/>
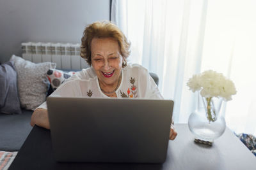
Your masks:
<path fill-rule="evenodd" d="M 80 43 L 84 27 L 109 20 L 110 0 L 0 0 L 0 62 L 20 43 Z"/>

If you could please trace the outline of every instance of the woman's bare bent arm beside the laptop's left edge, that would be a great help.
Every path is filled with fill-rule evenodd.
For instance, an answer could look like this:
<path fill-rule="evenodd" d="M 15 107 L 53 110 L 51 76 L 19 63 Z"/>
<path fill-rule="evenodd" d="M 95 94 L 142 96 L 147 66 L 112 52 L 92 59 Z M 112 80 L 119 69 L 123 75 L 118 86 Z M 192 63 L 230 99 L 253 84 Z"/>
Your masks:
<path fill-rule="evenodd" d="M 38 125 L 46 129 L 50 129 L 50 123 L 47 110 L 43 108 L 36 109 L 31 116 L 31 126 Z"/>

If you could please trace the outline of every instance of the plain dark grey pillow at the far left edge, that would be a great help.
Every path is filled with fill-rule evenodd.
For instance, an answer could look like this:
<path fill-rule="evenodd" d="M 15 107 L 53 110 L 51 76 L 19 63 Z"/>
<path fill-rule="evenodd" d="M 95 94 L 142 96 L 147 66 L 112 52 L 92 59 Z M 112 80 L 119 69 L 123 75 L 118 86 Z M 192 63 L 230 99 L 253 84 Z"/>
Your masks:
<path fill-rule="evenodd" d="M 17 73 L 10 61 L 0 66 L 0 113 L 21 113 Z"/>

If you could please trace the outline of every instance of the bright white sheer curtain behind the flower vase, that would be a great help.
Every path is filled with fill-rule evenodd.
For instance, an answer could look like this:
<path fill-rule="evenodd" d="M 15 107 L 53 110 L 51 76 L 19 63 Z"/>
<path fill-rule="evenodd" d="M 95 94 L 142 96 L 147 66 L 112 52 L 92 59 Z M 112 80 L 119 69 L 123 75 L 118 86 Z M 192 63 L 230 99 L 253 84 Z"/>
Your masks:
<path fill-rule="evenodd" d="M 129 60 L 159 76 L 175 101 L 175 122 L 188 121 L 196 96 L 186 82 L 214 69 L 234 81 L 224 104 L 228 127 L 256 135 L 256 1 L 113 0 L 111 20 L 131 41 Z"/>

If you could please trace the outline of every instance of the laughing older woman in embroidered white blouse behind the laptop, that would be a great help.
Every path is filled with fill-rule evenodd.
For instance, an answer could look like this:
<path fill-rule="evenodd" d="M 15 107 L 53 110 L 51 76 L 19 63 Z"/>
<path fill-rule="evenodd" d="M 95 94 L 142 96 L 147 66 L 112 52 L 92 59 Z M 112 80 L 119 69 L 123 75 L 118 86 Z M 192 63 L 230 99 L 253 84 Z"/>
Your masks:
<path fill-rule="evenodd" d="M 81 57 L 91 66 L 74 74 L 52 95 L 63 97 L 147 97 L 163 99 L 147 69 L 127 64 L 130 43 L 111 22 L 88 25 L 81 39 Z M 50 129 L 46 103 L 31 117 L 31 125 Z M 170 139 L 177 132 L 170 128 Z"/>

